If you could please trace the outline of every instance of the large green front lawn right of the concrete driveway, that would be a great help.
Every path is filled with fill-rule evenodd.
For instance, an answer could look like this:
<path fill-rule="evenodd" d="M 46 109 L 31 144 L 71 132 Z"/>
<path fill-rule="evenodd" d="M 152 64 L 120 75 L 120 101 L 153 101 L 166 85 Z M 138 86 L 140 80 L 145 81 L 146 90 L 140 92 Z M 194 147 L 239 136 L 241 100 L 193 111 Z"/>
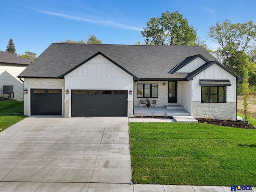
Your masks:
<path fill-rule="evenodd" d="M 200 123 L 129 123 L 137 184 L 256 186 L 256 130 Z"/>

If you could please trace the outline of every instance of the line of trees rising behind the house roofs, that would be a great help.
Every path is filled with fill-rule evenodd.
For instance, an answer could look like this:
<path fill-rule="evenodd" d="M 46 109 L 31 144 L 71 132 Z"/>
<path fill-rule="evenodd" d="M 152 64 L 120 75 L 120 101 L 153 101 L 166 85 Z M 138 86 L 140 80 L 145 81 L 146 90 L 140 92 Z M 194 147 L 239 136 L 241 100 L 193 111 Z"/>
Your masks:
<path fill-rule="evenodd" d="M 159 18 L 150 18 L 141 34 L 145 38 L 144 43 L 138 41 L 136 45 L 204 46 L 224 66 L 239 76 L 243 77 L 244 69 L 248 70 L 249 85 L 256 86 L 256 25 L 252 21 L 232 23 L 230 20 L 225 20 L 223 23 L 217 22 L 215 26 L 210 26 L 207 38 L 215 42 L 217 48 L 209 48 L 206 42 L 197 36 L 197 29 L 178 11 L 166 11 Z M 102 41 L 95 35 L 90 35 L 86 42 L 84 39 L 80 41 L 67 39 L 60 43 L 102 44 Z M 6 51 L 16 54 L 12 39 Z M 36 58 L 33 52 L 25 52 L 21 56 L 32 60 Z"/>

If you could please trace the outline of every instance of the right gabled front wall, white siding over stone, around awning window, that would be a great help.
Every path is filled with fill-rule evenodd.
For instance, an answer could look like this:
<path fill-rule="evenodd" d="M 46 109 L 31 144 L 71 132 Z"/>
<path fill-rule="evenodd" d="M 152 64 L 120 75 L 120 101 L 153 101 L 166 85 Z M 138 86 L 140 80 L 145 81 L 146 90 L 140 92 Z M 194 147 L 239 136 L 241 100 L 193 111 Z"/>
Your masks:
<path fill-rule="evenodd" d="M 230 80 L 231 86 L 226 86 L 226 103 L 202 103 L 200 79 Z M 191 115 L 195 118 L 236 120 L 236 77 L 217 64 L 194 77 L 191 91 Z"/>

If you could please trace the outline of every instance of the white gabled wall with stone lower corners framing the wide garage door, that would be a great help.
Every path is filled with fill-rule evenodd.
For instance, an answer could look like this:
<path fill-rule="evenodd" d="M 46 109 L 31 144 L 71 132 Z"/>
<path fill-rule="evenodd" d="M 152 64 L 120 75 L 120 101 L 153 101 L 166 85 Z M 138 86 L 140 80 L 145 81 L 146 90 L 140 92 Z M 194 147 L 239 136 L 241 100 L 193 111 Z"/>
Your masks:
<path fill-rule="evenodd" d="M 127 90 L 128 116 L 133 116 L 133 77 L 98 55 L 65 76 L 65 90 Z M 132 90 L 132 95 L 129 91 Z M 70 116 L 71 94 L 65 94 L 65 116 Z M 69 115 L 68 115 L 69 114 Z"/>

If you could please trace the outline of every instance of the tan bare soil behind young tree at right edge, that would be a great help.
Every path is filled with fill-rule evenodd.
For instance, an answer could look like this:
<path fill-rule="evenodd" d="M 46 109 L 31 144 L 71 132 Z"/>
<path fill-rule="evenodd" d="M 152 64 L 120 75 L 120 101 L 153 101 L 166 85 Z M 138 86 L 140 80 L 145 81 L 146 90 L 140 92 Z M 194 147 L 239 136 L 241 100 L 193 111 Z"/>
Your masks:
<path fill-rule="evenodd" d="M 244 96 L 237 96 L 237 112 L 244 114 Z M 252 118 L 256 119 L 256 95 L 251 95 L 248 99 L 248 109 Z"/>

